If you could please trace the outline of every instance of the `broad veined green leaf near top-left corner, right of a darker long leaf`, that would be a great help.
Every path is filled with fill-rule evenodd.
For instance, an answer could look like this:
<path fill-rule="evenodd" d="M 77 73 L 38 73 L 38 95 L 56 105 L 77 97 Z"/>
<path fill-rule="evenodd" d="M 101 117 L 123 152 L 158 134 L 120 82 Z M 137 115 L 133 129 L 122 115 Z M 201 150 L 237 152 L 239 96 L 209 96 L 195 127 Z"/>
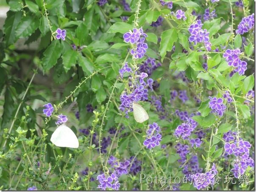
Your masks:
<path fill-rule="evenodd" d="M 39 19 L 36 16 L 23 16 L 16 27 L 16 38 L 31 36 L 39 27 Z"/>

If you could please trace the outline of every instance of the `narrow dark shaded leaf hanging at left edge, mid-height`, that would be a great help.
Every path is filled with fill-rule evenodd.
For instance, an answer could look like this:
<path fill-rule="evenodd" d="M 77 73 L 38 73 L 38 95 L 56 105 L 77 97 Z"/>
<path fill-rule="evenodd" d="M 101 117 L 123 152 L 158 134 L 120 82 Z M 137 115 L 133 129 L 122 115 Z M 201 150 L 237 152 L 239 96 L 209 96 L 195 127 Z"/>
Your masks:
<path fill-rule="evenodd" d="M 11 91 L 9 90 L 9 88 L 6 88 L 3 104 L 2 128 L 6 125 L 6 123 L 11 120 L 14 109 L 14 100 L 12 99 Z"/>

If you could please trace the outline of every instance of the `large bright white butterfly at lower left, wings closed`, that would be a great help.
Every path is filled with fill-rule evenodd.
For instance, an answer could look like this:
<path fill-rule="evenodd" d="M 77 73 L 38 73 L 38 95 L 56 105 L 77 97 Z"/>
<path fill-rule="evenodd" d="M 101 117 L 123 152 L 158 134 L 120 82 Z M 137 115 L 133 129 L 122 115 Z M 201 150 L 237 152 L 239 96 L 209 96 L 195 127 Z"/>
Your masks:
<path fill-rule="evenodd" d="M 75 133 L 65 125 L 59 126 L 55 132 L 53 132 L 50 141 L 58 147 L 79 147 L 79 142 Z"/>

